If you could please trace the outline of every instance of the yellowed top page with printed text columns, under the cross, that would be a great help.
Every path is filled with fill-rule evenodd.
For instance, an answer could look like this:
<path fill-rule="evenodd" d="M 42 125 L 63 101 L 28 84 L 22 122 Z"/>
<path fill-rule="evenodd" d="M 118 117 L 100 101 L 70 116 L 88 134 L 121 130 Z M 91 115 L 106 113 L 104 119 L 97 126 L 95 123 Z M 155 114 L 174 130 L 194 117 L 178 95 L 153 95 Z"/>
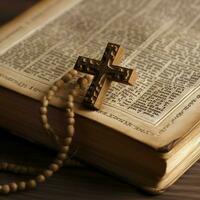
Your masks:
<path fill-rule="evenodd" d="M 79 114 L 153 146 L 198 123 L 199 1 L 45 1 L 15 24 L 0 37 L 4 87 L 40 99 L 79 55 L 101 59 L 113 42 L 126 50 L 121 66 L 139 78 L 134 86 L 113 82 L 100 111 Z"/>

